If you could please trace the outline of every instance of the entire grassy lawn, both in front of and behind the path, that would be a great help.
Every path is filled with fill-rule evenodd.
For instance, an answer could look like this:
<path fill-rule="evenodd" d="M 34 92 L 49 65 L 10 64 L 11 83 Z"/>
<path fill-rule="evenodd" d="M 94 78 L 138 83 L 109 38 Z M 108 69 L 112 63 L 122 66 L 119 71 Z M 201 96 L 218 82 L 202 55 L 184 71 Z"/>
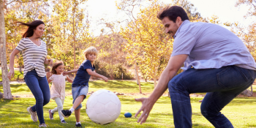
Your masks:
<path fill-rule="evenodd" d="M 154 83 L 141 83 L 143 93 L 151 93 L 154 90 Z M 253 86 L 254 90 L 255 86 Z M 105 83 L 102 80 L 95 80 L 89 82 L 89 91 L 97 91 L 99 89 L 108 89 L 110 91 L 118 91 L 120 93 L 138 93 L 138 85 L 135 81 L 121 81 L 110 80 Z M 31 94 L 31 91 L 26 84 L 11 84 L 12 95 Z M 2 86 L 0 85 L 2 92 Z M 71 84 L 67 83 L 67 94 L 71 94 Z M 121 114 L 115 122 L 107 125 L 94 124 L 86 115 L 86 101 L 83 101 L 83 108 L 81 110 L 80 121 L 83 127 L 174 127 L 173 112 L 170 103 L 170 97 L 161 97 L 151 110 L 150 116 L 145 124 L 140 125 L 136 121 L 135 113 L 139 110 L 141 103 L 135 102 L 135 98 L 146 97 L 143 94 L 135 96 L 118 96 L 121 100 Z M 213 127 L 206 118 L 200 113 L 200 102 L 198 100 L 203 97 L 192 97 L 192 123 L 193 127 Z M 39 122 L 31 121 L 29 113 L 26 108 L 29 105 L 34 105 L 34 98 L 18 98 L 15 100 L 0 99 L 0 127 L 38 127 Z M 229 105 L 227 105 L 222 113 L 230 119 L 234 127 L 256 127 L 256 97 L 236 98 Z M 72 96 L 67 96 L 64 102 L 64 109 L 69 109 L 72 106 Z M 50 99 L 48 105 L 44 107 L 44 117 L 46 124 L 49 127 L 74 127 L 75 115 L 72 114 L 66 118 L 68 124 L 61 124 L 59 115 L 56 113 L 54 119 L 50 120 L 48 110 L 56 107 L 53 99 Z M 132 118 L 125 118 L 124 113 L 132 113 Z"/>

